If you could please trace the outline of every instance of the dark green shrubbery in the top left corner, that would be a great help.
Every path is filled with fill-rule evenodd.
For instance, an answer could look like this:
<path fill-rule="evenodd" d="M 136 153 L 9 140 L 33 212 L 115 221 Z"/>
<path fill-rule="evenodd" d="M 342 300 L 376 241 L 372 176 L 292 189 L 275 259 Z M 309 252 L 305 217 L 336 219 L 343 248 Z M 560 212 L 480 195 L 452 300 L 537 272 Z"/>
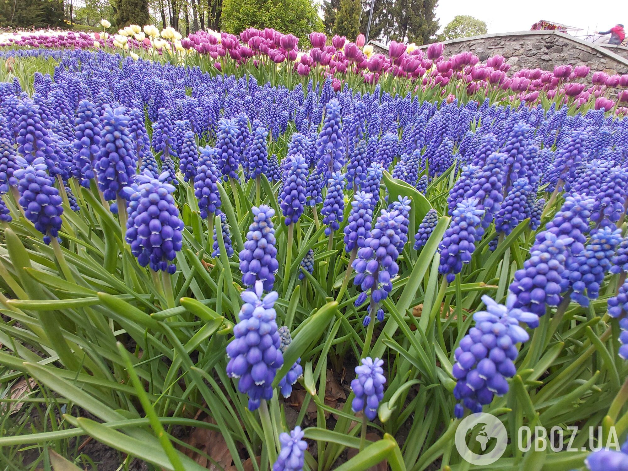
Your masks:
<path fill-rule="evenodd" d="M 63 27 L 61 0 L 0 0 L 2 28 Z"/>

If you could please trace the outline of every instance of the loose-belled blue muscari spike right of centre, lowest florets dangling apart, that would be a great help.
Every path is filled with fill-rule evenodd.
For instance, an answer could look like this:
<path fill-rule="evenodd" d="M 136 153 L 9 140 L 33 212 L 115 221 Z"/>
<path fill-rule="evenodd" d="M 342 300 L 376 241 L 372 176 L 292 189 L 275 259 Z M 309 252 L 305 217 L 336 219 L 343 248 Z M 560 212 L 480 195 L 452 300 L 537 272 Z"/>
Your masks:
<path fill-rule="evenodd" d="M 357 251 L 352 264 L 357 272 L 354 284 L 360 286 L 362 293 L 355 300 L 355 306 L 364 304 L 369 296 L 368 290 L 371 290 L 372 303 L 377 304 L 393 289 L 391 279 L 399 272 L 397 259 L 402 222 L 403 216 L 398 212 L 382 210 L 364 246 Z"/>

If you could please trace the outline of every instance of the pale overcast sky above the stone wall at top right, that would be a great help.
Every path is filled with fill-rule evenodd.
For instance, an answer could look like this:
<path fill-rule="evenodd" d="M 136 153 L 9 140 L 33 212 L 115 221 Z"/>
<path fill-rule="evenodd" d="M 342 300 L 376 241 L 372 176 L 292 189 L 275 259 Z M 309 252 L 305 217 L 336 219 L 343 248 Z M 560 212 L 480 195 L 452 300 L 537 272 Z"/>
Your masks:
<path fill-rule="evenodd" d="M 542 3 L 520 0 L 439 0 L 436 18 L 439 18 L 440 30 L 457 14 L 468 14 L 484 20 L 489 33 L 526 31 L 539 19 L 582 28 L 583 31 L 577 34 L 586 34 L 587 28 L 589 32 L 607 31 L 617 23 L 624 24 L 628 30 L 628 1 L 599 1 L 599 8 L 593 7 L 595 4 L 584 0 L 545 0 Z"/>

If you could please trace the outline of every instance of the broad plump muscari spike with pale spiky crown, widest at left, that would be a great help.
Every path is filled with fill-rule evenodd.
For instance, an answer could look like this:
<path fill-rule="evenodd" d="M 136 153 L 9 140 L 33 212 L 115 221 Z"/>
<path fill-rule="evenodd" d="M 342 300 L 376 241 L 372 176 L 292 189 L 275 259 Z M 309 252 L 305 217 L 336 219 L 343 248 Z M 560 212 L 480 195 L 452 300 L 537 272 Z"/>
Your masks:
<path fill-rule="evenodd" d="M 154 178 L 147 172 L 122 190 L 129 202 L 126 241 L 140 266 L 173 274 L 176 266 L 171 262 L 181 250 L 184 225 L 172 196 L 175 187 L 164 179 L 164 173 Z"/>

